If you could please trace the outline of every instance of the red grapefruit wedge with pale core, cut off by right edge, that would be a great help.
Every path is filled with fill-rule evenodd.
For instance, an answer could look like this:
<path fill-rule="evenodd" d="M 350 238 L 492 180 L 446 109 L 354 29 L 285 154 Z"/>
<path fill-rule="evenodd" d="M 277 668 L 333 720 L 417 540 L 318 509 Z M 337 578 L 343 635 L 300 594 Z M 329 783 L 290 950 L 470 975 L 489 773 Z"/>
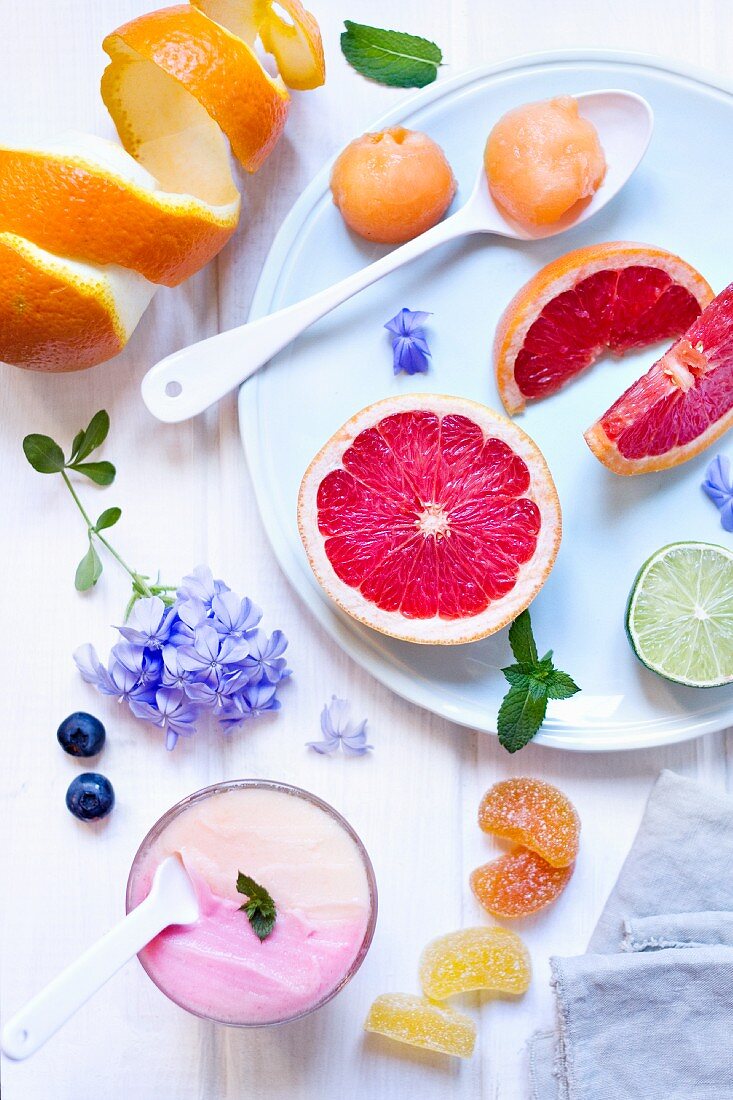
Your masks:
<path fill-rule="evenodd" d="M 667 470 L 733 425 L 733 284 L 586 432 L 617 474 Z"/>

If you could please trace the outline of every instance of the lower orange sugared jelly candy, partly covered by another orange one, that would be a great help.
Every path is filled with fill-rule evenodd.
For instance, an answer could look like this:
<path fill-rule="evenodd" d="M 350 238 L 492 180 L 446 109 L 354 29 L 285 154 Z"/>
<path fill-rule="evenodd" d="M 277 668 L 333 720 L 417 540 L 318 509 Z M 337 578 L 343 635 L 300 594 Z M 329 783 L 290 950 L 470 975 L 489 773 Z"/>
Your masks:
<path fill-rule="evenodd" d="M 575 865 L 553 867 L 536 851 L 517 848 L 471 871 L 477 900 L 492 916 L 529 916 L 551 904 L 570 881 Z"/>

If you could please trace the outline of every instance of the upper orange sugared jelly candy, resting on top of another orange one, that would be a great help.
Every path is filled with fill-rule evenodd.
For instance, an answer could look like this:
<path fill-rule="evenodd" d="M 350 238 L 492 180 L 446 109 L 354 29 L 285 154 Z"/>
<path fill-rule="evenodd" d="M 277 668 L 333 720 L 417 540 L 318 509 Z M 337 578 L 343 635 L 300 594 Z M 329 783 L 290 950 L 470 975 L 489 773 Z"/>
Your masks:
<path fill-rule="evenodd" d="M 505 779 L 486 791 L 479 825 L 536 851 L 553 867 L 569 867 L 578 855 L 580 818 L 572 802 L 541 779 Z"/>

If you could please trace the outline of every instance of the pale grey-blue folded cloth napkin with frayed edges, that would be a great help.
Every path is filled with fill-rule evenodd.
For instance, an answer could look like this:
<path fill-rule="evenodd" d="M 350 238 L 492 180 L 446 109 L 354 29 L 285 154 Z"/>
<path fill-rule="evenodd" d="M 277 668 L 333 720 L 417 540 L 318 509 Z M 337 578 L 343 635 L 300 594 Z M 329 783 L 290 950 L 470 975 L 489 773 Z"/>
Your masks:
<path fill-rule="evenodd" d="M 588 954 L 550 967 L 533 1100 L 733 1100 L 733 800 L 663 772 Z"/>

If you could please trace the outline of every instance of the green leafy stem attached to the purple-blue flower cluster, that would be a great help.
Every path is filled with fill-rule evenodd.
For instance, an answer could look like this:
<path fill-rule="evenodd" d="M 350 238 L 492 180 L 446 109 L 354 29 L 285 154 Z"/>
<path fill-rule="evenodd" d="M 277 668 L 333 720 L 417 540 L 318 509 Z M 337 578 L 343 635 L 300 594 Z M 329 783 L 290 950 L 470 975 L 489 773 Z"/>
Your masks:
<path fill-rule="evenodd" d="M 106 486 L 112 484 L 117 471 L 111 462 L 86 461 L 101 447 L 107 439 L 108 432 L 109 415 L 106 409 L 100 409 L 99 413 L 92 416 L 87 428 L 80 429 L 74 437 L 68 459 L 64 457 L 62 448 L 50 436 L 26 436 L 23 440 L 23 452 L 33 469 L 40 474 L 62 475 L 64 484 L 72 494 L 72 499 L 87 525 L 87 540 L 89 544 L 84 558 L 76 568 L 74 583 L 77 591 L 86 592 L 88 588 L 94 587 L 101 576 L 103 566 L 95 546 L 95 542 L 99 542 L 111 553 L 132 581 L 132 596 L 127 607 L 127 618 L 135 601 L 144 596 L 160 596 L 165 604 L 172 604 L 173 596 L 171 593 L 175 592 L 175 585 L 161 584 L 160 580 L 151 582 L 146 574 L 140 573 L 128 565 L 109 539 L 102 535 L 102 531 L 109 530 L 110 527 L 113 527 L 118 522 L 122 515 L 122 509 L 117 507 L 105 508 L 97 520 L 94 521 L 72 484 L 72 479 L 69 477 L 70 471 L 83 474 L 97 485 Z"/>

